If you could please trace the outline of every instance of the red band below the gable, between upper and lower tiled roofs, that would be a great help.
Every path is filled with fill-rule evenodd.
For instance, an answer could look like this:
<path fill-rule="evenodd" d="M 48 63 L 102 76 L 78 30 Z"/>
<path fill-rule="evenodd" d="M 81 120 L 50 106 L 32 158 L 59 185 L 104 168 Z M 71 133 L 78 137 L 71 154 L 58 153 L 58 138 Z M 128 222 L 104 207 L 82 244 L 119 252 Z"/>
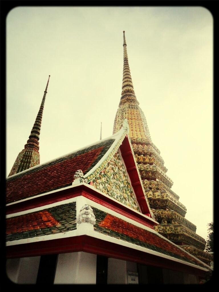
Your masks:
<path fill-rule="evenodd" d="M 147 227 L 154 229 L 154 223 L 149 218 L 142 216 L 141 213 L 137 213 L 134 210 L 127 208 L 124 205 L 119 204 L 119 202 L 114 201 L 109 196 L 104 196 L 97 192 L 95 189 L 91 189 L 86 185 L 78 185 L 73 188 L 65 190 L 57 190 L 57 192 L 50 193 L 44 196 L 37 198 L 32 198 L 27 201 L 19 202 L 10 206 L 6 206 L 6 214 L 12 214 L 20 211 L 29 210 L 32 208 L 37 208 L 52 204 L 58 201 L 63 201 L 66 199 L 83 196 L 91 201 L 94 201 L 102 206 L 105 206 L 121 215 L 124 215 L 130 219 L 135 220 L 138 223 L 141 223 Z"/>

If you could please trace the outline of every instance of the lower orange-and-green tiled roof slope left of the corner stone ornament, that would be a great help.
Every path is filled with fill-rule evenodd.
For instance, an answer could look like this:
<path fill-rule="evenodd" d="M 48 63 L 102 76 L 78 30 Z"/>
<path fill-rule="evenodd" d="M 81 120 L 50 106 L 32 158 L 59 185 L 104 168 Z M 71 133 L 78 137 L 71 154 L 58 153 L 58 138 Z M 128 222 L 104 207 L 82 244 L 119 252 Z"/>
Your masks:
<path fill-rule="evenodd" d="M 6 241 L 76 229 L 76 202 L 6 219 Z"/>

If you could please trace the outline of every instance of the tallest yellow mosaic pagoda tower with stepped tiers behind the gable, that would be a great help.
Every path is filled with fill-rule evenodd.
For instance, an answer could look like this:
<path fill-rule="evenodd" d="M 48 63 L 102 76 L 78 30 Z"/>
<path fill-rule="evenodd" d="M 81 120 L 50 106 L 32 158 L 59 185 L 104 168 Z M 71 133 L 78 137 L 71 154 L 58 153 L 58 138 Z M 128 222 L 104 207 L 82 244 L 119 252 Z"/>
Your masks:
<path fill-rule="evenodd" d="M 185 218 L 186 207 L 171 190 L 173 181 L 166 175 L 167 168 L 159 149 L 151 140 L 145 115 L 139 107 L 128 64 L 125 32 L 123 32 L 124 66 L 122 92 L 114 120 L 113 133 L 128 120 L 129 136 L 150 207 L 159 222 L 155 230 L 180 245 L 200 260 L 210 264 L 212 255 L 204 252 L 206 241 L 196 234 L 196 226 Z"/>

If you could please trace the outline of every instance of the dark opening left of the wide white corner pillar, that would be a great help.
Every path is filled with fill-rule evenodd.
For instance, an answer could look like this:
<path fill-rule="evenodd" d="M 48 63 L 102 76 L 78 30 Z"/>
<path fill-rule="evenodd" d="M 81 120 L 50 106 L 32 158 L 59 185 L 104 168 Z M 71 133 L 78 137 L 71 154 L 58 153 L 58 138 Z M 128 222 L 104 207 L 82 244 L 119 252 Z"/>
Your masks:
<path fill-rule="evenodd" d="M 41 256 L 36 284 L 53 284 L 57 255 Z"/>

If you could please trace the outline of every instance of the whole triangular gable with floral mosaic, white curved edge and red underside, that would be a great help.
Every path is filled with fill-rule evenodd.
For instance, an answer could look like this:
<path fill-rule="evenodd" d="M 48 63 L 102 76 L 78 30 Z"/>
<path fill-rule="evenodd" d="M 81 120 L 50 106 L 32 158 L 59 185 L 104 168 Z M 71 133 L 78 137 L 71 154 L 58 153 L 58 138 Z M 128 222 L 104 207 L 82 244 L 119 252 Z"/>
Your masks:
<path fill-rule="evenodd" d="M 87 183 L 94 184 L 94 187 L 103 193 L 154 218 L 140 178 L 128 132 L 128 123 L 127 120 L 124 120 L 123 127 L 112 136 L 115 138 L 115 142 L 98 164 L 84 175 L 84 178 Z M 112 181 L 110 183 L 111 174 L 109 172 L 117 172 L 119 168 L 120 177 L 118 173 L 114 174 L 113 183 Z M 122 185 L 123 179 L 127 182 L 126 186 Z M 106 181 L 107 185 L 104 186 L 103 182 L 106 183 Z"/>

